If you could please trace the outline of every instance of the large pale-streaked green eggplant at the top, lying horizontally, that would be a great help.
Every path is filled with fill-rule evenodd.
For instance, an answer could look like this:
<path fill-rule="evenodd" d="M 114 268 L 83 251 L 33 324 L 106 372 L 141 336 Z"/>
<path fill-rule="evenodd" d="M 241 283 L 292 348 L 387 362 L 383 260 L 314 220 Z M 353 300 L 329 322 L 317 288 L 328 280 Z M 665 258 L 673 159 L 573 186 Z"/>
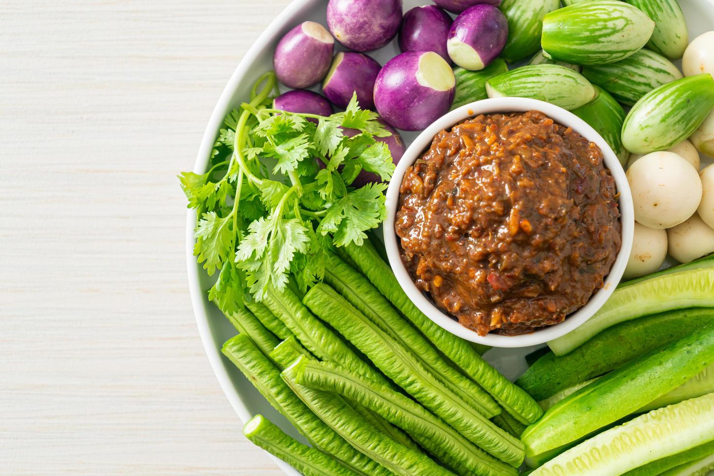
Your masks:
<path fill-rule="evenodd" d="M 543 18 L 540 44 L 545 56 L 572 64 L 608 64 L 639 51 L 655 22 L 640 9 L 617 0 L 566 6 Z"/>

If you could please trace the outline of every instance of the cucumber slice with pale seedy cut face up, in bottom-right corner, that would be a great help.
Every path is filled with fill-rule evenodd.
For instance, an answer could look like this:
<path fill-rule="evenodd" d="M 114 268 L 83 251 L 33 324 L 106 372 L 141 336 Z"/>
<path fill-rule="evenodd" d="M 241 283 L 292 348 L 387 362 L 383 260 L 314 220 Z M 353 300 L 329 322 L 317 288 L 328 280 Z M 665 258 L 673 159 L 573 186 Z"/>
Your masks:
<path fill-rule="evenodd" d="M 596 435 L 535 470 L 534 476 L 620 475 L 714 440 L 714 394 L 653 410 Z"/>

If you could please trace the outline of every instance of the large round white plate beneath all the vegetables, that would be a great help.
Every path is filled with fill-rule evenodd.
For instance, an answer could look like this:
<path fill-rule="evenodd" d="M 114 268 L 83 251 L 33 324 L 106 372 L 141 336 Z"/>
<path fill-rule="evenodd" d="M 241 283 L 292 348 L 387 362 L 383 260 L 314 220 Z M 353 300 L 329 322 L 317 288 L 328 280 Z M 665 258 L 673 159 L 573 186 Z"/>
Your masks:
<path fill-rule="evenodd" d="M 414 6 L 430 4 L 429 1 L 423 0 L 404 0 L 404 11 L 411 9 Z M 680 5 L 685 13 L 688 21 L 690 39 L 702 34 L 705 31 L 714 29 L 714 0 L 680 0 Z M 223 89 L 221 98 L 218 99 L 216 107 L 213 108 L 211 119 L 206 126 L 206 132 L 203 134 L 201 148 L 198 150 L 196 158 L 196 166 L 193 171 L 203 173 L 206 171 L 208 158 L 213 148 L 213 142 L 216 139 L 216 133 L 223 122 L 223 117 L 226 113 L 236 108 L 246 97 L 249 96 L 250 88 L 253 83 L 265 71 L 272 69 L 273 66 L 273 49 L 283 34 L 286 34 L 293 26 L 301 21 L 313 20 L 321 24 L 326 24 L 325 8 L 326 0 L 293 0 L 288 4 L 287 8 L 268 26 L 266 31 L 256 39 L 246 56 L 236 71 L 228 81 L 226 88 Z M 337 44 L 336 44 L 337 45 Z M 383 49 L 371 52 L 380 64 L 386 63 L 393 56 L 398 54 L 396 41 L 392 41 Z M 417 133 L 403 133 L 402 136 L 407 145 L 411 143 Z M 196 263 L 196 258 L 193 256 L 193 227 L 196 223 L 196 214 L 193 211 L 188 211 L 186 221 L 186 260 L 188 264 L 188 285 L 191 290 L 191 302 L 193 303 L 193 312 L 196 314 L 196 323 L 198 324 L 198 332 L 201 334 L 203 347 L 206 348 L 206 355 L 211 363 L 213 372 L 216 373 L 218 383 L 220 383 L 223 392 L 226 393 L 228 401 L 231 402 L 233 409 L 238 413 L 241 421 L 247 421 L 252 415 L 262 413 L 277 425 L 283 427 L 290 435 L 302 439 L 298 433 L 291 428 L 291 425 L 273 410 L 273 407 L 253 388 L 253 385 L 243 378 L 240 371 L 233 366 L 221 354 L 221 346 L 229 338 L 236 335 L 236 330 L 228 323 L 228 320 L 223 317 L 221 312 L 208 302 L 208 293 L 206 290 L 211 287 L 211 278 L 203 271 L 200 265 Z M 523 356 L 533 351 L 535 347 L 520 348 L 520 349 L 498 349 L 492 350 L 486 355 L 493 365 L 501 370 L 508 378 L 516 378 L 526 370 L 526 363 Z M 240 423 L 234 422 L 236 425 Z M 286 474 L 298 476 L 299 473 L 290 465 L 273 458 L 276 464 L 281 467 Z"/>

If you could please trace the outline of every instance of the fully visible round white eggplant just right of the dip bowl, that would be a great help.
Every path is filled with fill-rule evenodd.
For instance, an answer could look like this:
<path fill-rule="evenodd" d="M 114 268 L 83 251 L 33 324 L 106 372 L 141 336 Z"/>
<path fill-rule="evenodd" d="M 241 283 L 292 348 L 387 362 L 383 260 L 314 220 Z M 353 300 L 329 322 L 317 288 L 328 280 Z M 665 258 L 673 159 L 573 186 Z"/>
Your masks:
<path fill-rule="evenodd" d="M 648 153 L 626 173 L 635 220 L 650 228 L 671 228 L 693 215 L 702 182 L 691 163 L 671 152 Z"/>

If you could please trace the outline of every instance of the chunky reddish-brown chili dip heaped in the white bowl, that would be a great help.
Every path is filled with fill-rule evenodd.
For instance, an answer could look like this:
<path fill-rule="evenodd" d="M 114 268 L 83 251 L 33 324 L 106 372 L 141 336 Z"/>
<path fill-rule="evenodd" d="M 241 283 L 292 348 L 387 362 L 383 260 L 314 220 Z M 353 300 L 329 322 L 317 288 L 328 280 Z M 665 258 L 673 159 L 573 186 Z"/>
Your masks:
<path fill-rule="evenodd" d="M 400 188 L 396 234 L 417 287 L 479 335 L 560 323 L 620 249 L 603 153 L 538 111 L 441 131 Z"/>

